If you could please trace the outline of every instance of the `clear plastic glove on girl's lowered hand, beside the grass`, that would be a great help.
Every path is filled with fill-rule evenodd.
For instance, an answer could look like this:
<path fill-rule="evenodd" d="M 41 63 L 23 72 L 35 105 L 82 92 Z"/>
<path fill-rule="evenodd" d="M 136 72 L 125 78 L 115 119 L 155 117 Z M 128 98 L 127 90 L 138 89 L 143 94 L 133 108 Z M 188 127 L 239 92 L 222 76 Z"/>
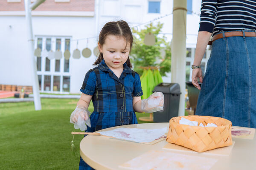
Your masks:
<path fill-rule="evenodd" d="M 82 131 L 90 126 L 90 112 L 84 106 L 76 106 L 76 109 L 70 115 L 70 123 L 74 124 L 75 129 L 80 129 Z"/>

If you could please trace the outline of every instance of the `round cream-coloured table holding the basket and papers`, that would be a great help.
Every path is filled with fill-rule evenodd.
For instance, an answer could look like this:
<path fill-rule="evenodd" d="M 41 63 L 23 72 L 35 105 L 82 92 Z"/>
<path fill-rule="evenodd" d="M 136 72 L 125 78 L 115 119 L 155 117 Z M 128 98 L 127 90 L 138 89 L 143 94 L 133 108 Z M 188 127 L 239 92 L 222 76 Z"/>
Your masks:
<path fill-rule="evenodd" d="M 119 127 L 131 127 L 141 129 L 169 128 L 169 123 L 143 123 L 136 125 L 124 125 L 111 127 L 99 131 L 113 130 Z M 256 166 L 256 137 L 254 139 L 233 138 L 235 144 L 229 156 L 201 155 L 196 152 L 180 152 L 191 156 L 204 156 L 218 159 L 211 170 L 253 170 Z M 110 139 L 105 136 L 87 135 L 80 143 L 80 155 L 84 161 L 96 170 L 124 170 L 119 167 L 131 159 L 142 155 L 149 150 L 163 150 L 166 140 L 153 145 Z"/>

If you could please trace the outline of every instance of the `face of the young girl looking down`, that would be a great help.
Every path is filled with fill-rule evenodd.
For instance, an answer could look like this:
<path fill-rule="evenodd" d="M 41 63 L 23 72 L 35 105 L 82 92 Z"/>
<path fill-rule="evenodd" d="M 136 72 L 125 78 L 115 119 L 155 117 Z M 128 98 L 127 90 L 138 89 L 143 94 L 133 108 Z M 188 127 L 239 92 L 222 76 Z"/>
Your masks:
<path fill-rule="evenodd" d="M 126 42 L 124 37 L 107 35 L 105 43 L 99 45 L 99 51 L 102 52 L 105 63 L 111 70 L 123 68 L 129 56 L 130 42 Z"/>

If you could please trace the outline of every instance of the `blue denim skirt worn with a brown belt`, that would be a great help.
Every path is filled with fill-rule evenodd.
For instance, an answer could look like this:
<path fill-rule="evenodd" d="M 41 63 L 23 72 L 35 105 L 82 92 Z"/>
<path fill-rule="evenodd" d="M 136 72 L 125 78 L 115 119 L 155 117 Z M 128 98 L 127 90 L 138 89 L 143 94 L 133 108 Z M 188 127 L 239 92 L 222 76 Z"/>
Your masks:
<path fill-rule="evenodd" d="M 224 35 L 224 31 L 218 34 Z M 195 114 L 256 128 L 256 37 L 224 37 L 212 42 Z"/>

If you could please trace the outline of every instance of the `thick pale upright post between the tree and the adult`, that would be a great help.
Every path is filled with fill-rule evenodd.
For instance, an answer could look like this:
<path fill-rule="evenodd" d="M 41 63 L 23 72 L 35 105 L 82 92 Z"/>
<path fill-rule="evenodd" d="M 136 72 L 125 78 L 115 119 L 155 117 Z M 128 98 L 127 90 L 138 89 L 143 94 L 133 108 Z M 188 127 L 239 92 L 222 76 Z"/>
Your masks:
<path fill-rule="evenodd" d="M 172 83 L 180 85 L 178 116 L 185 115 L 186 89 L 186 0 L 173 1 Z"/>

